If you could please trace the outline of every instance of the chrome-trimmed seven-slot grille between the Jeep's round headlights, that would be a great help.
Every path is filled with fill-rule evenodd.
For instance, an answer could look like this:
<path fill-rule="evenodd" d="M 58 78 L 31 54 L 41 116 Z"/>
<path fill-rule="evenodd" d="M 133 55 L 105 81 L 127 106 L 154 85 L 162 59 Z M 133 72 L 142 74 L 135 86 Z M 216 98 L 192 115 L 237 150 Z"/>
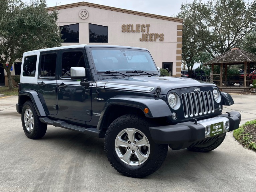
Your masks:
<path fill-rule="evenodd" d="M 185 118 L 214 113 L 214 98 L 212 91 L 181 93 L 181 100 Z"/>

